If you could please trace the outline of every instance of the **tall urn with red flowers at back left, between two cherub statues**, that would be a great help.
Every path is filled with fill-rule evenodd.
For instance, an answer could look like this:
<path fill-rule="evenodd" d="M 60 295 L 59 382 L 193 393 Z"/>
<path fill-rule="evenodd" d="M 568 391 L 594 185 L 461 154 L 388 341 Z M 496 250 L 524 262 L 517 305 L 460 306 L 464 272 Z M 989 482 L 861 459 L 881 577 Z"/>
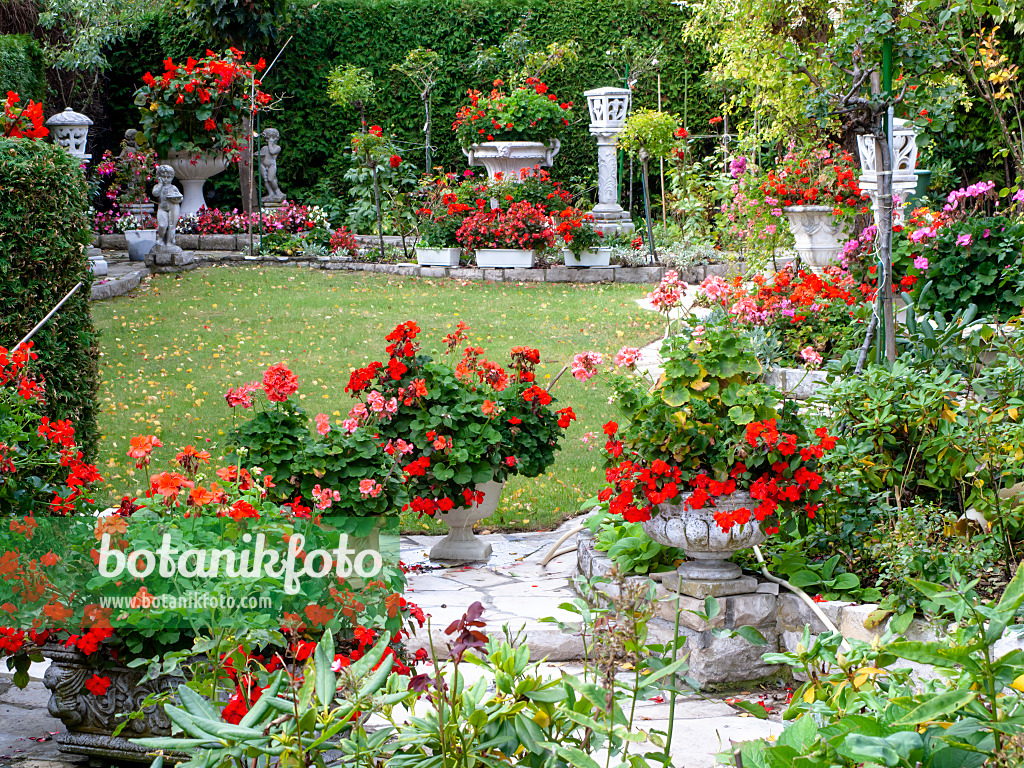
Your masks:
<path fill-rule="evenodd" d="M 204 182 L 249 147 L 245 121 L 270 102 L 260 89 L 264 69 L 262 58 L 250 63 L 243 51 L 231 48 L 223 55 L 207 50 L 199 59 L 168 57 L 163 75 L 142 77 L 135 91 L 142 135 L 181 181 L 182 214 L 204 207 Z"/>

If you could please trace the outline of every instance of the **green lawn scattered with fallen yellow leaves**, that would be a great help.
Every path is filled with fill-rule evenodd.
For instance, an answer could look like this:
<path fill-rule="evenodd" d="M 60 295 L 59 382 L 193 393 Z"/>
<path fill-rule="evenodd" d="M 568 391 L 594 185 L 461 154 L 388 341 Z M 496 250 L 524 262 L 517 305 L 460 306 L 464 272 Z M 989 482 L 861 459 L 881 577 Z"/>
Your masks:
<path fill-rule="evenodd" d="M 542 385 L 577 352 L 613 354 L 624 345 L 642 346 L 662 330 L 659 317 L 635 303 L 646 292 L 643 286 L 459 283 L 280 267 L 210 268 L 158 276 L 151 286 L 93 309 L 102 332 L 98 464 L 112 501 L 142 493 L 144 475 L 126 457 L 132 435 L 160 437 L 158 468 L 186 444 L 221 456 L 232 423 L 223 393 L 260 379 L 272 364 L 286 362 L 298 375 L 310 416 L 347 413 L 349 373 L 384 357 L 384 335 L 407 319 L 423 329 L 425 351 L 439 348 L 441 336 L 459 321 L 469 324 L 470 340 L 498 361 L 506 361 L 514 345 L 537 346 Z M 583 384 L 566 374 L 553 394 L 580 421 L 551 470 L 513 478 L 498 513 L 478 529 L 552 527 L 599 487 L 599 449 L 581 437 L 600 434 L 613 416 L 610 389 L 601 377 Z M 415 516 L 402 526 L 438 529 Z"/>

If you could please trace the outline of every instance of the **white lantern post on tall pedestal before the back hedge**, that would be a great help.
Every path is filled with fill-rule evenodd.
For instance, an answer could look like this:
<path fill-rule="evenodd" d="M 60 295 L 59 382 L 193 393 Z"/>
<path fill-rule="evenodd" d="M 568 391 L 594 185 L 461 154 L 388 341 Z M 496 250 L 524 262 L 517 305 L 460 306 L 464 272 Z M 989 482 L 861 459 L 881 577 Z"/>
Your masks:
<path fill-rule="evenodd" d="M 594 88 L 586 91 L 590 132 L 597 138 L 597 198 L 591 213 L 594 228 L 604 234 L 633 231 L 630 214 L 618 205 L 616 140 L 630 111 L 629 88 Z"/>

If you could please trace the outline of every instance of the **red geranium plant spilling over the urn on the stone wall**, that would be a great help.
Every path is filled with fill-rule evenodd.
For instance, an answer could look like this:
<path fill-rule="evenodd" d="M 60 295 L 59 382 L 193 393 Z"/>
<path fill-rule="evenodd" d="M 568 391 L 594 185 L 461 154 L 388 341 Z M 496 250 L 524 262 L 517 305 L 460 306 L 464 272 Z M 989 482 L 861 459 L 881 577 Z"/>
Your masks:
<path fill-rule="evenodd" d="M 753 509 L 716 512 L 723 530 L 751 517 L 776 532 L 786 514 L 814 516 L 821 495 L 818 460 L 835 447 L 812 438 L 792 401 L 752 383 L 760 366 L 734 325 L 686 330 L 663 347 L 665 376 L 616 382 L 623 426 L 605 425 L 605 479 L 598 499 L 631 522 L 648 520 L 660 504 L 715 507 L 737 489 Z"/>

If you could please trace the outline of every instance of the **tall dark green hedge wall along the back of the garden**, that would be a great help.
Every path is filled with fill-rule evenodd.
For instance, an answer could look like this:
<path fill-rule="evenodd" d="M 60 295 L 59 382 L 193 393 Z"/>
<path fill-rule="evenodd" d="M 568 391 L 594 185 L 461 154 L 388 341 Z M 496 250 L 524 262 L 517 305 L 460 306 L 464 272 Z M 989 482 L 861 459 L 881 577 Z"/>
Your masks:
<path fill-rule="evenodd" d="M 451 124 L 469 87 L 489 87 L 468 71 L 476 46 L 497 45 L 526 17 L 526 29 L 537 43 L 579 40 L 580 60 L 571 70 L 552 74 L 548 81 L 560 98 L 578 105 L 577 120 L 563 141 L 555 165 L 556 177 L 593 181 L 596 145 L 587 130 L 583 92 L 615 85 L 605 67 L 605 51 L 626 36 L 665 44 L 662 72 L 663 103 L 682 114 L 688 90 L 687 114 L 691 126 L 702 130 L 720 100 L 700 87 L 708 69 L 702 49 L 681 42 L 683 12 L 669 0 L 322 0 L 315 9 L 301 10 L 285 31 L 294 39 L 266 78 L 265 86 L 285 96 L 283 111 L 265 115 L 262 125 L 279 128 L 284 154 L 280 174 L 289 196 L 307 194 L 321 178 L 340 182 L 344 161 L 341 150 L 357 128 L 357 116 L 344 114 L 326 95 L 327 74 L 340 62 L 369 68 L 380 95 L 368 111 L 368 120 L 393 129 L 403 141 L 422 142 L 423 110 L 419 94 L 403 75 L 391 71 L 406 53 L 425 46 L 438 51 L 445 62 L 433 96 L 433 134 L 438 147 L 434 163 L 447 168 L 465 167 Z M 171 15 L 154 16 L 136 39 L 125 40 L 112 52 L 109 73 L 109 113 L 117 143 L 124 129 L 137 125 L 132 92 L 146 70 L 163 72 L 162 60 L 198 55 L 208 41 L 190 37 L 187 26 Z M 656 79 L 642 80 L 636 91 L 642 106 L 656 106 Z M 409 147 L 408 159 L 421 170 L 423 151 Z M 223 174 L 222 184 L 237 185 Z"/>

